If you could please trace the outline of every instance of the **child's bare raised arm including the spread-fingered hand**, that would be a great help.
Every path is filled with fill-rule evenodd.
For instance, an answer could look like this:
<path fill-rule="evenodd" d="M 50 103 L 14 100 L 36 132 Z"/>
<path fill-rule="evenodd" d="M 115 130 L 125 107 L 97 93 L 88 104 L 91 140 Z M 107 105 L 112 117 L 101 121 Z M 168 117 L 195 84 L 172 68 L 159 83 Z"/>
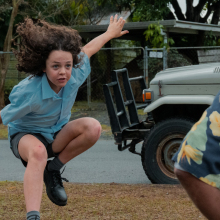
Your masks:
<path fill-rule="evenodd" d="M 127 30 L 122 31 L 124 24 L 125 20 L 122 17 L 118 19 L 118 15 L 115 15 L 115 17 L 111 16 L 107 31 L 91 40 L 82 48 L 82 51 L 90 58 L 93 54 L 97 53 L 109 40 L 129 33 Z"/>

